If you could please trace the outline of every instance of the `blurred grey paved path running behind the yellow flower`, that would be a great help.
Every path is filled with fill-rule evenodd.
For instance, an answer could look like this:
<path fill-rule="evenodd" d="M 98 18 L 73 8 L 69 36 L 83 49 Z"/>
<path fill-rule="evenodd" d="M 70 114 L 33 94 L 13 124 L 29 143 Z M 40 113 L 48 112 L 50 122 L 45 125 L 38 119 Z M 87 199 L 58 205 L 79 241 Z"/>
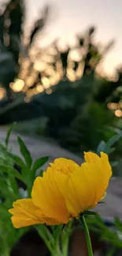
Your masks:
<path fill-rule="evenodd" d="M 49 156 L 50 161 L 54 161 L 54 158 L 71 158 L 77 163 L 81 163 L 82 159 L 68 152 L 67 150 L 58 147 L 53 143 L 47 143 L 45 139 L 35 139 L 28 136 L 20 135 L 24 139 L 24 143 L 31 151 L 32 157 L 40 158 L 43 156 Z M 0 139 L 3 141 L 6 137 L 6 131 L 0 129 Z M 13 153 L 20 154 L 19 147 L 17 145 L 17 134 L 13 133 L 10 139 L 10 145 L 13 148 Z M 43 168 L 46 169 L 46 164 Z M 101 213 L 103 217 L 120 217 L 122 218 L 122 179 L 113 178 L 110 181 L 107 196 L 105 198 L 107 203 L 98 205 L 96 211 Z"/>

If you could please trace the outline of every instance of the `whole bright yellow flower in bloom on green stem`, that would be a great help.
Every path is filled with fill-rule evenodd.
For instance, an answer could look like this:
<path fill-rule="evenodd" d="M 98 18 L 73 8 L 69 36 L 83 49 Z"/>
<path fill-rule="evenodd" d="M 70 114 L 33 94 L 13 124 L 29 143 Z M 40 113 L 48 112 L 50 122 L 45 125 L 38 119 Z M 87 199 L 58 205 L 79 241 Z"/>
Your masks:
<path fill-rule="evenodd" d="M 66 224 L 84 210 L 97 205 L 105 194 L 112 175 L 107 154 L 84 153 L 85 162 L 57 158 L 43 177 L 37 177 L 31 199 L 13 202 L 12 222 L 15 228 L 31 224 Z"/>

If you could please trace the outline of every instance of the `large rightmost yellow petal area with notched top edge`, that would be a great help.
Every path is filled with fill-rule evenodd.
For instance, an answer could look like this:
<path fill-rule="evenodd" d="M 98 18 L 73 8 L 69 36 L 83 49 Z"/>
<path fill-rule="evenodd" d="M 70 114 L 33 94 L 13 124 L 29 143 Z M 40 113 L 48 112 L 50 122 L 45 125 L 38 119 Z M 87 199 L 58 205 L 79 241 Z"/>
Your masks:
<path fill-rule="evenodd" d="M 85 158 L 87 162 L 68 176 L 65 187 L 66 206 L 73 217 L 96 206 L 105 194 L 112 175 L 106 154 L 102 153 L 98 158 L 88 153 Z"/>

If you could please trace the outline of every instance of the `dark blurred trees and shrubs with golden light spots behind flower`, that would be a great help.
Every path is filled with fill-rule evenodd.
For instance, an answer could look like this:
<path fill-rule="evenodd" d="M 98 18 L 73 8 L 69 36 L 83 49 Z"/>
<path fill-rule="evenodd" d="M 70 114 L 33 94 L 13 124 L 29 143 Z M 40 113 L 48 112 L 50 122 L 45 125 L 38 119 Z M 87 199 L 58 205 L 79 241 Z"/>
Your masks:
<path fill-rule="evenodd" d="M 94 43 L 91 26 L 76 35 L 76 46 L 61 49 L 57 39 L 42 49 L 35 41 L 50 22 L 50 6 L 29 35 L 24 18 L 24 2 L 17 0 L 9 1 L 0 17 L 0 125 L 17 121 L 17 131 L 54 139 L 79 155 L 120 134 L 122 68 L 114 80 L 99 70 L 114 40 Z M 111 157 L 121 163 L 121 140 Z"/>

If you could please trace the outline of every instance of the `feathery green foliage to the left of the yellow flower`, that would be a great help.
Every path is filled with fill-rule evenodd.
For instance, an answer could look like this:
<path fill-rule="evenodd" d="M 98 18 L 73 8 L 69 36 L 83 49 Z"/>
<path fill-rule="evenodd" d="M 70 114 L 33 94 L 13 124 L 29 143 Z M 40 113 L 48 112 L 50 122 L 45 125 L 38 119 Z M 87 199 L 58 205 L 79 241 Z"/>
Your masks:
<path fill-rule="evenodd" d="M 6 135 L 5 145 L 0 143 L 0 255 L 9 256 L 9 251 L 13 244 L 28 230 L 28 228 L 13 228 L 8 210 L 12 208 L 13 202 L 19 198 L 30 195 L 31 187 L 35 180 L 36 170 L 41 169 L 48 158 L 39 158 L 33 162 L 30 157 L 28 148 L 22 139 L 18 139 L 22 158 L 12 154 L 9 150 L 9 137 L 12 127 Z M 23 158 L 25 162 L 23 161 Z M 21 173 L 14 168 L 14 164 L 18 164 Z M 26 184 L 27 189 L 20 189 L 17 180 L 21 180 Z"/>

